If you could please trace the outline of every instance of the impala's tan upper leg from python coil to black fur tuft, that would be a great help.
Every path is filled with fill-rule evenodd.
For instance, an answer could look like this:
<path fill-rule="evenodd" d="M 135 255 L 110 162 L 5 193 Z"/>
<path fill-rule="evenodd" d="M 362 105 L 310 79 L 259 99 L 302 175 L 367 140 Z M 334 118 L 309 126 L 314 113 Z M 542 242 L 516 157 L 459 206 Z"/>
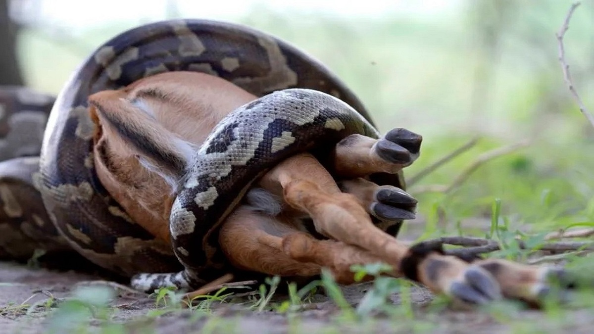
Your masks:
<path fill-rule="evenodd" d="M 314 220 L 315 229 L 328 238 L 357 245 L 383 259 L 400 262 L 407 247 L 373 225 L 358 198 L 342 193 L 315 159 L 302 154 L 271 169 L 261 184 L 282 190 L 286 203 Z"/>

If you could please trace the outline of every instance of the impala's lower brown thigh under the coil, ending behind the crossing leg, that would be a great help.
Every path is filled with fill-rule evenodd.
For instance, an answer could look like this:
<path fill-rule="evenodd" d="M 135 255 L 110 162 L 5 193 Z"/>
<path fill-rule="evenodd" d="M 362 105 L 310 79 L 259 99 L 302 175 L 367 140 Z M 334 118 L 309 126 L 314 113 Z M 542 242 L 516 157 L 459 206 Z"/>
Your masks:
<path fill-rule="evenodd" d="M 333 240 L 316 240 L 300 231 L 298 219 L 239 207 L 219 234 L 226 257 L 239 269 L 284 277 L 313 277 L 328 267 L 334 279 L 353 283 L 350 266 L 381 259 L 361 248 Z M 366 279 L 370 279 L 368 277 Z"/>

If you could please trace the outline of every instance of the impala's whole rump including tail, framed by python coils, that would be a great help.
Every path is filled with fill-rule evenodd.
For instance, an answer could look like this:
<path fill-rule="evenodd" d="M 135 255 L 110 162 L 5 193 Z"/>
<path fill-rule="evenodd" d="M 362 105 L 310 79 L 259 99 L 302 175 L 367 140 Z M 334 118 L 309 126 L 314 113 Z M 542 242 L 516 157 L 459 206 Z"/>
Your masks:
<path fill-rule="evenodd" d="M 135 222 L 167 226 L 195 150 L 220 119 L 255 98 L 222 78 L 192 72 L 157 74 L 91 95 L 99 179 Z M 168 240 L 163 231 L 157 233 Z"/>

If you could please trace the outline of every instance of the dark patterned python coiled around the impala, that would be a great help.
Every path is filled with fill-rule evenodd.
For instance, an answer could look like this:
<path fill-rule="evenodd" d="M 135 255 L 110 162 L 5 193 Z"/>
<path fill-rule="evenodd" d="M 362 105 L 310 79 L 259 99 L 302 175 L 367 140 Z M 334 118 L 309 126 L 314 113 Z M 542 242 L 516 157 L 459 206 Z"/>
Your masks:
<path fill-rule="evenodd" d="M 216 75 L 260 97 L 223 119 L 191 165 L 178 166 L 184 177 L 170 217 L 173 247 L 133 222 L 100 183 L 87 104 L 90 94 L 166 71 Z M 27 109 L 16 95 L 13 90 L 2 99 L 3 120 Z M 216 247 L 216 226 L 267 168 L 304 150 L 323 156 L 349 134 L 378 136 L 360 100 L 323 64 L 270 34 L 210 20 L 160 21 L 125 31 L 91 53 L 55 103 L 43 95 L 38 100 L 37 128 L 27 131 L 43 133 L 40 149 L 33 138 L 28 149 L 0 152 L 0 255 L 70 249 L 131 277 L 132 286 L 144 291 L 200 286 L 222 275 L 226 263 Z M 0 144 L 16 130 L 4 131 Z M 15 235 L 27 242 L 11 242 Z"/>

